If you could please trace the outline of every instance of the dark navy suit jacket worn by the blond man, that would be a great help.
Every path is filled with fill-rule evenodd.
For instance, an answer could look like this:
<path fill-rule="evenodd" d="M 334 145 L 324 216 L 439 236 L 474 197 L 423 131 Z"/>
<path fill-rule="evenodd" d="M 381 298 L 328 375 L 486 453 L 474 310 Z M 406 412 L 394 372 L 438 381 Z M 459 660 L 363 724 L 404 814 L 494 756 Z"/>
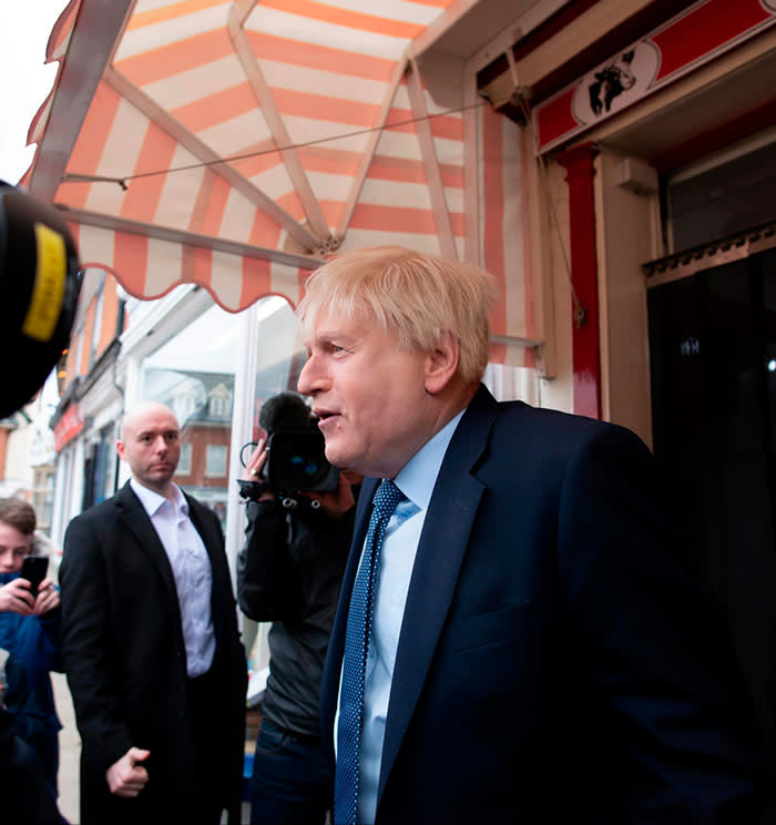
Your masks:
<path fill-rule="evenodd" d="M 324 674 L 329 743 L 376 483 Z M 754 822 L 751 701 L 675 539 L 632 432 L 480 388 L 418 546 L 377 823 Z"/>

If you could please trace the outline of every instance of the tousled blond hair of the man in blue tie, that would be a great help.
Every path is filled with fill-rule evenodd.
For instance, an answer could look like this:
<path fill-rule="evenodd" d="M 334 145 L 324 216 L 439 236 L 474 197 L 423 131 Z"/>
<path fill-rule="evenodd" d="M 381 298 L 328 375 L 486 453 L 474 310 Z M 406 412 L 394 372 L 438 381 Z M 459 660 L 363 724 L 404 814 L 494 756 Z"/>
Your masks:
<path fill-rule="evenodd" d="M 488 364 L 488 318 L 497 292 L 493 277 L 477 266 L 376 246 L 346 252 L 316 269 L 297 314 L 308 329 L 321 309 L 348 318 L 367 313 L 385 330 L 395 330 L 404 349 L 426 353 L 450 333 L 459 342 L 458 374 L 479 381 Z"/>

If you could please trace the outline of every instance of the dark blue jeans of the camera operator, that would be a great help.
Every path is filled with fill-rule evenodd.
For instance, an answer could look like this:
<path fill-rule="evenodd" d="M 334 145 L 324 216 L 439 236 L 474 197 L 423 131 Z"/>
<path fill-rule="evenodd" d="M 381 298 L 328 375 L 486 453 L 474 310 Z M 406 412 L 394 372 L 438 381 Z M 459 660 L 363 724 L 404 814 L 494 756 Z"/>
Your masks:
<path fill-rule="evenodd" d="M 319 737 L 302 737 L 264 720 L 251 778 L 252 825 L 323 825 L 333 776 Z"/>

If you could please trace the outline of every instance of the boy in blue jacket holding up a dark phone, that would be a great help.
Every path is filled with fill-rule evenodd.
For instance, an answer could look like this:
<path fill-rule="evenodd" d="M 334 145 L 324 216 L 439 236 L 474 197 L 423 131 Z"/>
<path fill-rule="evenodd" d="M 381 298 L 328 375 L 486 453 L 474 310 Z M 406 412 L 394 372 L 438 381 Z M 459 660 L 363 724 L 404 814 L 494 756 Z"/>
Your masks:
<path fill-rule="evenodd" d="M 62 671 L 60 595 L 48 559 L 31 556 L 35 511 L 22 499 L 0 498 L 0 648 L 23 668 L 32 697 L 16 712 L 17 732 L 37 753 L 57 792 L 59 731 L 51 671 Z"/>

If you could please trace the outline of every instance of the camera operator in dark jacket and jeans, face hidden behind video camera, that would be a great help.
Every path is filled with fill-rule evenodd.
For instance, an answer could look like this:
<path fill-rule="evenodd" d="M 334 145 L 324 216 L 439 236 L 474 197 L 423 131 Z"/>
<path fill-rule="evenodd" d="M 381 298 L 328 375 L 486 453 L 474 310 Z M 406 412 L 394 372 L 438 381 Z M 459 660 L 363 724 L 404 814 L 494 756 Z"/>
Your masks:
<path fill-rule="evenodd" d="M 302 396 L 280 393 L 262 406 L 267 439 L 318 434 Z M 323 439 L 321 439 L 323 440 Z M 269 678 L 262 703 L 251 781 L 251 822 L 256 825 L 324 823 L 334 778 L 320 740 L 318 694 L 355 516 L 351 481 L 331 471 L 323 487 L 273 489 L 265 477 L 273 452 L 258 441 L 246 462 L 241 495 L 247 498 L 245 546 L 237 558 L 243 612 L 269 621 Z M 321 461 L 323 444 L 321 444 Z"/>

